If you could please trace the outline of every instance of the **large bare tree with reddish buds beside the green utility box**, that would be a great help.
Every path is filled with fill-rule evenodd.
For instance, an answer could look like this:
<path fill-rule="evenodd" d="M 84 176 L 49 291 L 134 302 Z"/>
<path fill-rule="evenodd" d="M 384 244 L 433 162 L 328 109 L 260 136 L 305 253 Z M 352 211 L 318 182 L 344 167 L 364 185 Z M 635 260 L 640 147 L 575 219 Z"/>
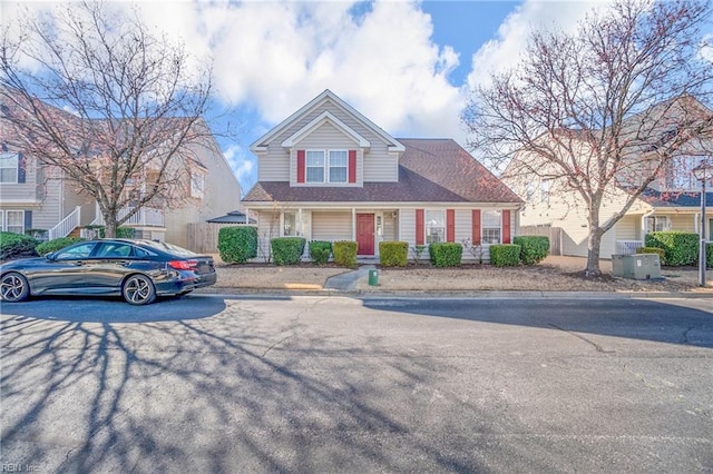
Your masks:
<path fill-rule="evenodd" d="M 602 236 L 713 132 L 710 17 L 705 1 L 621 0 L 574 33 L 533 32 L 519 65 L 471 93 L 471 146 L 504 179 L 548 180 L 585 203 L 587 276 L 600 274 Z"/>

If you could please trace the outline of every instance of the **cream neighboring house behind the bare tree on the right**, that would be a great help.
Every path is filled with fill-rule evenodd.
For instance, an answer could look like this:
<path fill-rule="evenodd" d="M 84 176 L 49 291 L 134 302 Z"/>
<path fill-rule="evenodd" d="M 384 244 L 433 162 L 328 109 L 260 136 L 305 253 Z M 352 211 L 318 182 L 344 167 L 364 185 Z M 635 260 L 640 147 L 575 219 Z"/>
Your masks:
<path fill-rule="evenodd" d="M 632 197 L 631 190 L 643 182 L 642 179 L 652 175 L 656 175 L 656 178 L 634 200 L 614 227 L 604 234 L 600 246 L 602 258 L 611 258 L 613 254 L 635 253 L 638 247 L 644 246 L 645 236 L 651 231 L 701 231 L 701 181 L 695 179 L 692 169 L 709 158 L 710 145 L 706 145 L 703 139 L 684 142 L 677 148 L 676 157 L 667 159 L 658 172 L 654 171 L 654 167 L 662 162 L 661 158 L 655 156 L 657 148 L 665 146 L 676 127 L 685 122 L 682 119 L 684 112 L 687 115 L 685 120 L 692 116 L 704 119 L 709 117 L 710 120 L 713 113 L 695 99 L 683 97 L 655 105 L 625 122 L 621 140 L 632 142 L 638 140 L 641 145 L 633 146 L 633 151 L 625 157 L 627 162 L 619 166 L 615 179 L 607 187 L 599 221 L 607 221 L 623 209 L 627 199 Z M 646 138 L 639 139 L 637 135 Z M 586 144 L 584 140 L 578 142 L 576 137 L 576 132 L 569 131 L 565 142 L 567 152 L 574 149 L 589 156 L 589 150 L 577 148 L 586 147 Z M 565 155 L 566 159 L 570 159 L 569 155 Z M 521 166 L 521 164 L 516 165 L 516 161 L 528 159 L 528 154 L 521 151 L 510 166 Z M 590 162 L 587 159 L 580 165 L 583 168 Z M 530 161 L 529 169 L 538 169 L 537 174 L 527 175 L 510 172 L 510 170 L 505 172 L 504 180 L 525 201 L 520 225 L 558 228 L 561 255 L 586 257 L 589 228 L 585 203 L 582 196 L 567 185 L 566 178 L 547 176 L 547 162 L 533 165 Z M 512 177 L 507 177 L 508 175 Z M 706 191 L 705 199 L 706 206 L 713 206 L 713 192 Z M 713 216 L 710 216 L 706 221 L 706 236 L 711 240 Z M 535 230 L 528 228 L 525 231 L 534 233 Z"/>

